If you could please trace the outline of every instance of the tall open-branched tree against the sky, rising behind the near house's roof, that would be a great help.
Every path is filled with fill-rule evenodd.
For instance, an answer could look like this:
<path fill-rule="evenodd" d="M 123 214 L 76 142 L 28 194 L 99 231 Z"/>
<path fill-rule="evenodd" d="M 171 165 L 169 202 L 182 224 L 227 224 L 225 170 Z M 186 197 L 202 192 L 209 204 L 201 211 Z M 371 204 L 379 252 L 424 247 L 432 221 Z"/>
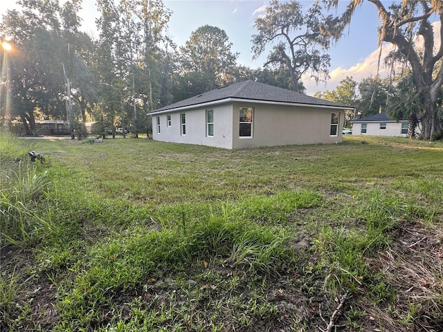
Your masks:
<path fill-rule="evenodd" d="M 326 80 L 330 57 L 325 53 L 329 39 L 320 31 L 323 21 L 318 3 L 303 12 L 298 1 L 272 0 L 264 15 L 255 19 L 257 34 L 252 37 L 255 57 L 273 46 L 267 64 L 282 64 L 291 75 L 294 91 L 299 91 L 302 75 L 309 74 L 316 80 Z"/>

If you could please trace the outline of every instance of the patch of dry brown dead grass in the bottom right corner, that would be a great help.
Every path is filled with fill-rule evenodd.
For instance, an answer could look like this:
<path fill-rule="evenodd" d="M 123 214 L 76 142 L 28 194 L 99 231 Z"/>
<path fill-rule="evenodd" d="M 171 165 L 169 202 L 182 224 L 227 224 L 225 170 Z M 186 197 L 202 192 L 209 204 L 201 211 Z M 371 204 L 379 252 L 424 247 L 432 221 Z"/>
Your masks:
<path fill-rule="evenodd" d="M 379 257 L 368 259 L 374 273 L 382 273 L 395 291 L 395 310 L 361 303 L 388 331 L 443 331 L 443 228 L 399 224 L 397 237 Z M 413 325 L 414 324 L 414 325 Z"/>

